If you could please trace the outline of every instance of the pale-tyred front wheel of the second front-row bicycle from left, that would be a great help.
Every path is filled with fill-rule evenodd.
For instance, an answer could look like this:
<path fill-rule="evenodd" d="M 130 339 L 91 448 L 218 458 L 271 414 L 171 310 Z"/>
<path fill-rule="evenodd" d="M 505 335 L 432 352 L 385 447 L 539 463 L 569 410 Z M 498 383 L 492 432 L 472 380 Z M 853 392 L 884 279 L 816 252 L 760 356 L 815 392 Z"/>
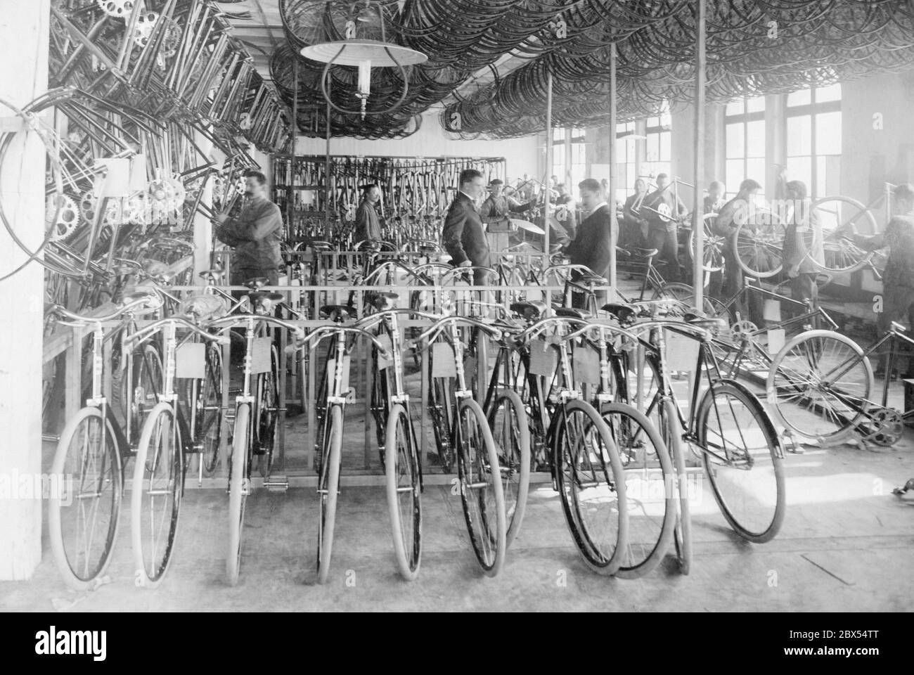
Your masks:
<path fill-rule="evenodd" d="M 163 424 L 165 417 L 171 418 L 170 424 Z M 169 438 L 170 443 L 165 446 L 166 449 L 163 452 L 163 448 L 158 444 L 165 438 Z M 133 582 L 140 588 L 157 588 L 165 579 L 165 573 L 171 564 L 178 516 L 181 510 L 181 496 L 184 491 L 184 453 L 181 442 L 181 424 L 171 403 L 158 403 L 143 422 L 143 431 L 140 434 L 140 443 L 137 446 L 133 463 L 130 530 L 133 544 Z M 165 469 L 164 474 L 160 473 L 162 468 Z M 165 479 L 165 490 L 160 487 L 163 485 L 163 478 Z M 149 485 L 148 503 L 144 499 L 147 496 L 147 483 Z M 144 542 L 148 544 L 148 541 L 144 536 L 143 524 L 151 521 L 152 530 L 162 530 L 163 525 L 156 524 L 155 501 L 163 492 L 166 496 L 163 510 L 166 518 L 163 518 L 161 522 L 168 528 L 165 546 L 164 549 L 161 549 L 160 559 L 157 554 L 160 549 L 155 542 L 152 543 L 152 557 L 148 561 L 151 564 L 147 565 L 145 553 L 150 552 L 150 546 L 145 545 L 144 550 Z M 171 498 L 170 507 L 167 497 Z M 145 508 L 146 506 L 148 506 L 148 510 Z"/>

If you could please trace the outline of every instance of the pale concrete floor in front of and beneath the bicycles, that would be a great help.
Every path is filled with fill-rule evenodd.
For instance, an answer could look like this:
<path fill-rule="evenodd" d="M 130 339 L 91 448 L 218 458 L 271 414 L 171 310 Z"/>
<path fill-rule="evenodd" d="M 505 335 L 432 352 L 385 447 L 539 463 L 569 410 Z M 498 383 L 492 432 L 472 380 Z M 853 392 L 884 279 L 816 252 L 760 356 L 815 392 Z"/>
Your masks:
<path fill-rule="evenodd" d="M 415 376 L 409 378 L 410 391 L 416 385 Z M 900 383 L 896 389 L 900 399 Z M 901 402 L 893 397 L 889 404 Z M 377 452 L 366 455 L 363 449 L 363 417 L 362 405 L 347 410 L 344 477 L 364 471 L 366 459 L 370 469 L 378 468 Z M 303 416 L 291 416 L 286 429 L 288 466 L 304 469 Z M 423 431 L 433 445 L 430 429 Z M 53 454 L 52 445 L 46 454 Z M 682 576 L 667 557 L 637 580 L 590 572 L 548 483 L 531 489 L 523 530 L 502 573 L 484 577 L 460 498 L 449 485 L 427 485 L 415 582 L 403 582 L 396 571 L 383 488 L 343 488 L 325 585 L 314 581 L 314 488 L 259 489 L 247 503 L 240 582 L 229 588 L 224 583 L 228 496 L 224 488 L 195 489 L 188 477 L 173 564 L 161 588 L 133 585 L 125 500 L 110 583 L 92 592 L 69 591 L 59 579 L 46 531 L 44 560 L 34 577 L 0 583 L 0 610 L 909 611 L 914 494 L 901 499 L 891 489 L 914 477 L 914 431 L 906 431 L 892 449 L 810 447 L 802 455 L 788 454 L 784 465 L 787 515 L 773 541 L 741 540 L 720 515 L 707 481 L 693 470 L 698 489 L 692 501 L 692 572 Z"/>

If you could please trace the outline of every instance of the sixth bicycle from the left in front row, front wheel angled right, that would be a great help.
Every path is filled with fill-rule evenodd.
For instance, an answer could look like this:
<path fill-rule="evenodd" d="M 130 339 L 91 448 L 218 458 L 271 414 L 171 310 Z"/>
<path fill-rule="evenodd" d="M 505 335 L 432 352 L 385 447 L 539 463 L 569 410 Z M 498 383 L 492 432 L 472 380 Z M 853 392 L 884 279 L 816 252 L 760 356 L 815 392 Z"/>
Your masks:
<path fill-rule="evenodd" d="M 414 344 L 428 340 L 429 411 L 441 464 L 449 471 L 456 461 L 463 516 L 473 552 L 483 573 L 495 576 L 505 563 L 507 549 L 505 494 L 492 430 L 483 408 L 467 387 L 460 324 L 478 328 L 494 338 L 500 336 L 499 330 L 475 319 L 445 316 Z"/>

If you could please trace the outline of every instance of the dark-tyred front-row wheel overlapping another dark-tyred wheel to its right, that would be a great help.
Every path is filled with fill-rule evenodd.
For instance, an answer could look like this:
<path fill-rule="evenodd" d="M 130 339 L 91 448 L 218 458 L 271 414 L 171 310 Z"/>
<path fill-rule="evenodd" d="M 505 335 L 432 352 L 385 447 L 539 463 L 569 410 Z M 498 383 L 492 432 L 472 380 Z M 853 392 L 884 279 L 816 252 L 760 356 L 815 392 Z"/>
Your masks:
<path fill-rule="evenodd" d="M 590 403 L 571 400 L 553 437 L 558 494 L 571 536 L 596 573 L 614 574 L 628 546 L 625 476 L 609 427 Z"/>

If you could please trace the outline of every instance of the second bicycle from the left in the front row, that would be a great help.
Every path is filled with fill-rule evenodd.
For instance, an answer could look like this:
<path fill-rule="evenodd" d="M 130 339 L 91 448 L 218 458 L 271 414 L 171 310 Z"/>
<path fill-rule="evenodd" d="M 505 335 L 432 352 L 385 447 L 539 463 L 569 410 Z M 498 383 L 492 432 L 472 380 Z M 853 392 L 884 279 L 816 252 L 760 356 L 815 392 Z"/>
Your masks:
<path fill-rule="evenodd" d="M 141 588 L 157 588 L 165 579 L 165 573 L 172 560 L 172 552 L 177 533 L 178 516 L 181 509 L 181 498 L 184 495 L 186 475 L 186 458 L 191 453 L 202 450 L 202 442 L 209 434 L 210 426 L 203 420 L 197 423 L 197 406 L 191 409 L 191 420 L 188 422 L 183 406 L 178 404 L 175 386 L 175 372 L 178 366 L 177 327 L 189 331 L 186 339 L 197 336 L 207 342 L 228 344 L 228 338 L 220 338 L 201 330 L 196 324 L 182 316 L 169 316 L 154 321 L 149 326 L 140 328 L 133 335 L 125 338 L 127 344 L 141 342 L 156 332 L 162 331 L 165 336 L 165 373 L 159 402 L 146 416 L 140 433 L 136 450 L 136 461 L 133 464 L 133 483 L 131 492 L 131 539 L 133 542 L 134 584 Z M 213 380 L 215 372 L 212 363 L 207 364 L 207 352 L 204 351 L 202 377 L 209 386 L 217 387 Z M 188 361 L 194 357 L 185 356 Z M 208 371 L 208 372 L 207 372 Z M 209 376 L 207 378 L 207 375 Z M 215 398 L 216 410 L 210 411 L 208 422 L 221 421 L 221 391 Z M 212 408 L 212 402 L 210 407 Z M 203 417 L 206 417 L 203 415 Z M 218 427 L 216 429 L 216 447 L 218 452 Z M 204 434 L 203 436 L 197 434 Z M 163 538 L 164 537 L 164 538 Z"/>

